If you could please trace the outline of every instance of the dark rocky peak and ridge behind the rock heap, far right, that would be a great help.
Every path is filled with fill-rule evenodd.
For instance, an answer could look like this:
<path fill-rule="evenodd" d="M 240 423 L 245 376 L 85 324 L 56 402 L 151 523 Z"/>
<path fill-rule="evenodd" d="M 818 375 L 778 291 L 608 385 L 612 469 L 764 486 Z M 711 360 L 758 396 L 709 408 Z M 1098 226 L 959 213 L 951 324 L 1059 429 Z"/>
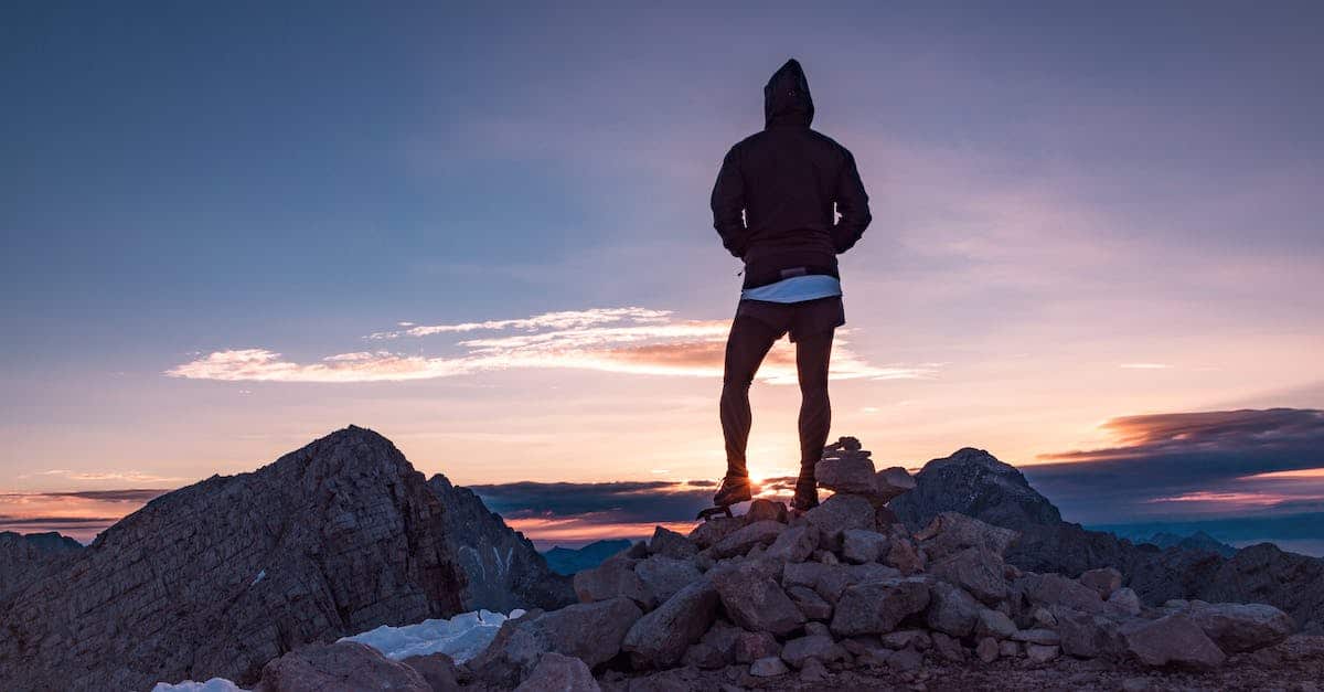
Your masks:
<path fill-rule="evenodd" d="M 1324 634 L 1321 558 L 1284 553 L 1271 544 L 1230 554 L 1217 541 L 1176 541 L 1164 549 L 1087 530 L 1062 521 L 1061 512 L 1019 471 L 982 449 L 935 459 L 915 475 L 915 490 L 888 505 L 911 530 L 956 512 L 1018 532 L 1006 562 L 1022 570 L 1078 577 L 1113 569 L 1149 606 L 1174 598 L 1260 602 L 1291 615 L 1303 632 Z M 1098 579 L 1091 582 L 1095 587 L 1111 586 L 1104 573 L 1091 579 Z"/>

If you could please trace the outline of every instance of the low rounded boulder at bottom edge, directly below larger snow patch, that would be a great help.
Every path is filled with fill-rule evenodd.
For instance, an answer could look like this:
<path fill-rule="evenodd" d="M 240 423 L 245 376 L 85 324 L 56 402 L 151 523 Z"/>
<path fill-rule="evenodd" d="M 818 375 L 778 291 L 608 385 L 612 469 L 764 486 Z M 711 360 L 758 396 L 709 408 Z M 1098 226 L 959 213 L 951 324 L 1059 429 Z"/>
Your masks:
<path fill-rule="evenodd" d="M 359 642 L 312 643 L 262 667 L 260 692 L 432 692 L 418 671 Z"/>

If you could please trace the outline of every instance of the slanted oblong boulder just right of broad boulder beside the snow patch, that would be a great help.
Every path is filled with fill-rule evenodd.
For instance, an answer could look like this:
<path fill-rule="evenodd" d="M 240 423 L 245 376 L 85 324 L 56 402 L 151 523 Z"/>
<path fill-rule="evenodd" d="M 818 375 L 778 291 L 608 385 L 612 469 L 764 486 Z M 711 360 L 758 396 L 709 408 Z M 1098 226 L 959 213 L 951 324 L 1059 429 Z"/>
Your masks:
<path fill-rule="evenodd" d="M 657 610 L 639 618 L 625 634 L 621 648 L 637 668 L 667 668 L 699 640 L 718 614 L 718 591 L 708 579 L 681 589 Z M 596 632 L 585 631 L 592 639 Z"/>

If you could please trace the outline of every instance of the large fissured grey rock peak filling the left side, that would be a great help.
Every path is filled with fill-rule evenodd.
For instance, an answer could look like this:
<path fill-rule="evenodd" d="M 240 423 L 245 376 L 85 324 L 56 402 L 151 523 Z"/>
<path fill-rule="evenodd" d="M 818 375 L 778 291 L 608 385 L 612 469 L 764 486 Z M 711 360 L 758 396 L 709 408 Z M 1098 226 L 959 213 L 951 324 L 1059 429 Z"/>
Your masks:
<path fill-rule="evenodd" d="M 483 532 L 471 510 L 449 508 L 389 440 L 352 426 L 254 472 L 212 476 L 11 594 L 0 688 L 245 685 L 305 643 L 473 610 L 466 599 L 499 594 L 470 583 L 462 532 Z M 519 587 L 530 567 L 510 555 Z"/>

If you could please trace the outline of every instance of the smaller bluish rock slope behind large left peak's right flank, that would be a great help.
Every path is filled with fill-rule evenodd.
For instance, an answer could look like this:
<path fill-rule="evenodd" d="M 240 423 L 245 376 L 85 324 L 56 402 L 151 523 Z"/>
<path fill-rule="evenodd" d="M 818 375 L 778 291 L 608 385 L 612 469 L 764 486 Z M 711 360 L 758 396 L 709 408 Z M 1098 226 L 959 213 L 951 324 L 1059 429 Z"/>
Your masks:
<path fill-rule="evenodd" d="M 573 602 L 569 579 L 552 571 L 534 544 L 506 526 L 499 514 L 489 512 L 473 490 L 451 485 L 441 473 L 428 487 L 446 508 L 446 525 L 458 544 L 465 607 L 510 612 Z"/>

